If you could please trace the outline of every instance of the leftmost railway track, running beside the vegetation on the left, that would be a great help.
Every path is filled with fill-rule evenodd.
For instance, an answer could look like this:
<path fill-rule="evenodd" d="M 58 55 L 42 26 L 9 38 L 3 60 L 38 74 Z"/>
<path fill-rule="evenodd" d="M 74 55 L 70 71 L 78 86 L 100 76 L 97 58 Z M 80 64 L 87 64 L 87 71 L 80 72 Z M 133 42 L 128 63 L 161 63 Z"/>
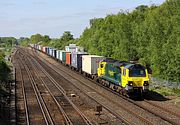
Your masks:
<path fill-rule="evenodd" d="M 19 57 L 19 56 L 18 56 Z M 27 70 L 27 67 L 23 64 L 19 58 L 17 61 L 20 68 L 23 101 L 25 109 L 26 124 L 48 124 L 48 118 L 45 115 L 41 99 L 33 85 L 31 76 Z"/>

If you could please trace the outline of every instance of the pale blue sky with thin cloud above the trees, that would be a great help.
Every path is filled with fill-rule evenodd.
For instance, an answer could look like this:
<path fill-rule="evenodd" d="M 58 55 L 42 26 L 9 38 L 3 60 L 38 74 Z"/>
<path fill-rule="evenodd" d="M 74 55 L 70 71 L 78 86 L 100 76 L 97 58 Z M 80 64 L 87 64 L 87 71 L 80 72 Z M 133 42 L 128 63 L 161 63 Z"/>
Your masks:
<path fill-rule="evenodd" d="M 60 38 L 70 31 L 78 38 L 89 20 L 133 10 L 139 5 L 161 5 L 165 0 L 0 0 L 0 37 L 33 34 Z"/>

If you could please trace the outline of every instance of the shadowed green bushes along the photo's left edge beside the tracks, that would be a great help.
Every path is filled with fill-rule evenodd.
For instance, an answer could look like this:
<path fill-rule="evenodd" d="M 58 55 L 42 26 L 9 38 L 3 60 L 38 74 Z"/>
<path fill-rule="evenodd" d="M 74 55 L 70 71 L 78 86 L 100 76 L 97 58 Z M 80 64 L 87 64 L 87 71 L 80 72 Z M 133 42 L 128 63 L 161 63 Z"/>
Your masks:
<path fill-rule="evenodd" d="M 10 54 L 16 42 L 13 37 L 0 37 L 0 124 L 10 124 L 10 86 L 13 82 Z"/>

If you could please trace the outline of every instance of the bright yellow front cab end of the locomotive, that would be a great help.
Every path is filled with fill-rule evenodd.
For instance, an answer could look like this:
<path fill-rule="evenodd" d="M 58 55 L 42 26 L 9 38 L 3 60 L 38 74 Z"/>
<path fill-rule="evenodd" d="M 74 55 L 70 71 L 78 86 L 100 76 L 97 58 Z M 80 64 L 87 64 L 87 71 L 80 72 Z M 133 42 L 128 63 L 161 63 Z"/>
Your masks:
<path fill-rule="evenodd" d="M 128 64 L 121 67 L 122 87 L 128 93 L 145 93 L 149 90 L 149 78 L 147 69 L 140 64 Z"/>

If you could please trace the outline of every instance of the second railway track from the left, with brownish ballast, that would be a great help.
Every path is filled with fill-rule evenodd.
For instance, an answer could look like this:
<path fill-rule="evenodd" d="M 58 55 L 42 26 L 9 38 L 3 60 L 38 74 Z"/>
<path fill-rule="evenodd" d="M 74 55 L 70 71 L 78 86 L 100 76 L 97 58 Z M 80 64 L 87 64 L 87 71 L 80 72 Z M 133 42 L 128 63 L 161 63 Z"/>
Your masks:
<path fill-rule="evenodd" d="M 27 56 L 27 55 L 26 55 Z M 61 110 L 63 117 L 65 119 L 65 124 L 67 125 L 73 125 L 73 124 L 82 124 L 82 125 L 92 125 L 92 123 L 90 122 L 90 120 L 88 120 L 88 118 L 72 103 L 72 101 L 66 96 L 66 92 L 63 90 L 62 87 L 60 87 L 59 85 L 57 85 L 57 82 L 39 65 L 38 63 L 31 58 L 27 59 L 29 61 L 28 66 L 31 64 L 31 66 L 33 66 L 33 71 L 35 72 L 34 75 L 38 76 L 39 71 L 42 71 L 45 74 L 45 77 L 49 79 L 49 81 L 54 84 L 56 86 L 56 88 L 58 89 L 58 92 L 56 92 L 56 94 L 53 94 L 50 91 L 50 87 L 48 87 L 48 85 L 46 85 L 46 82 L 39 77 L 39 79 L 42 81 L 43 85 L 46 87 L 46 89 L 48 90 L 48 93 L 50 93 L 51 97 L 53 98 L 53 100 L 56 102 L 56 105 L 58 105 L 59 109 Z M 33 63 L 33 61 L 34 63 Z M 36 63 L 36 64 L 35 64 Z M 35 66 L 36 65 L 36 66 Z M 39 68 L 39 69 L 38 69 Z M 48 82 L 49 83 L 49 82 Z M 52 88 L 52 87 L 51 87 Z M 52 90 L 54 91 L 54 90 Z M 61 93 L 60 95 L 57 95 L 57 93 Z M 56 97 L 54 96 L 56 95 Z M 63 103 L 66 103 L 66 106 L 63 106 L 59 103 L 57 97 L 61 97 L 61 102 L 63 100 Z M 67 106 L 68 105 L 68 106 Z M 72 114 L 68 114 L 66 113 L 68 110 L 71 110 L 71 113 L 74 113 L 74 115 Z M 74 112 L 73 112 L 74 110 Z M 76 112 L 76 113 L 75 113 Z M 78 113 L 78 114 L 77 114 Z M 80 118 L 77 118 L 77 116 L 80 116 Z"/>

